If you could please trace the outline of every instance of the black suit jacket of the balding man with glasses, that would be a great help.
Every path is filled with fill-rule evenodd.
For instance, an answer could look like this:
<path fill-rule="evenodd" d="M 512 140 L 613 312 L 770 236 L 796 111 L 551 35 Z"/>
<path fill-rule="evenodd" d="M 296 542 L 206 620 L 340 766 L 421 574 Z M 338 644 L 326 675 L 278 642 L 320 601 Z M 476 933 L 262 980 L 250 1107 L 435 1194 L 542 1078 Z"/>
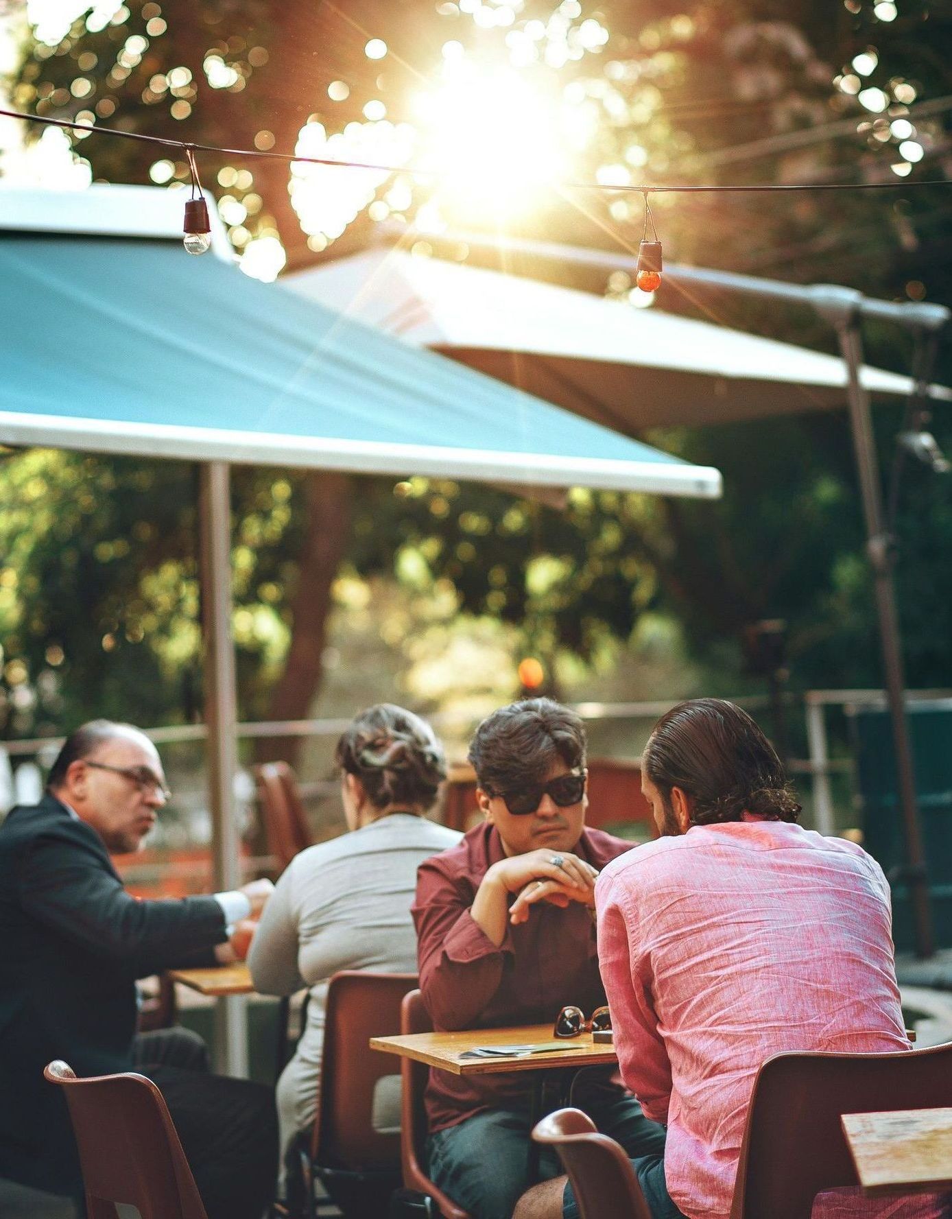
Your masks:
<path fill-rule="evenodd" d="M 79 1185 L 62 1089 L 43 1068 L 129 1070 L 135 979 L 211 963 L 226 939 L 213 897 L 138 901 L 102 839 L 45 796 L 0 825 L 0 1176 Z"/>

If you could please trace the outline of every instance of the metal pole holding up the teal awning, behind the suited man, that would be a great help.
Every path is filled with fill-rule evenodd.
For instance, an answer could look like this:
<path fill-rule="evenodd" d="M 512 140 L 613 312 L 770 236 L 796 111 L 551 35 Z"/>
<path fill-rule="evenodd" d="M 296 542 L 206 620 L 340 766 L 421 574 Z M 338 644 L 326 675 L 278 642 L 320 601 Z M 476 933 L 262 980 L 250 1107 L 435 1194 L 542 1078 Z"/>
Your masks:
<path fill-rule="evenodd" d="M 232 644 L 232 503 L 226 462 L 201 466 L 199 518 L 212 865 L 215 885 L 224 890 L 241 884 L 234 807 L 238 692 Z M 218 1001 L 215 1028 L 216 1067 L 227 1075 L 247 1078 L 247 1007 L 241 996 Z"/>

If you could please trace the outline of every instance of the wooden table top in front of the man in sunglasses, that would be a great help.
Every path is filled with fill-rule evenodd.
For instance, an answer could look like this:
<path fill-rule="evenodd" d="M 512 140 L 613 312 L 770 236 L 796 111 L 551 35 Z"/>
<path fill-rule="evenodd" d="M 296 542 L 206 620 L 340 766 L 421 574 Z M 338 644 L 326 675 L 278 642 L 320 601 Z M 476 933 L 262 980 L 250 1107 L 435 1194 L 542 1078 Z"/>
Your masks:
<path fill-rule="evenodd" d="M 507 1054 L 500 1058 L 463 1058 L 467 1050 L 491 1046 L 540 1046 L 545 1053 Z M 594 1067 L 618 1062 L 612 1045 L 594 1045 L 590 1032 L 559 1040 L 551 1024 L 511 1029 L 472 1029 L 461 1032 L 413 1032 L 400 1037 L 371 1037 L 371 1048 L 416 1058 L 453 1075 L 492 1075 L 499 1072 L 539 1070 L 551 1067 Z"/>

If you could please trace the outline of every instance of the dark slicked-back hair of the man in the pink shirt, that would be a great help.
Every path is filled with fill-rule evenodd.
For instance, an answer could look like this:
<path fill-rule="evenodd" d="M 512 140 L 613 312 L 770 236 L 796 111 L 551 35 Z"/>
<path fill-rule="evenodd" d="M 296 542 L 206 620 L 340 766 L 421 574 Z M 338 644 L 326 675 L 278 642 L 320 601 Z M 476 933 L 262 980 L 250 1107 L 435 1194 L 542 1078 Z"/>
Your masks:
<path fill-rule="evenodd" d="M 691 797 L 691 823 L 739 822 L 745 812 L 796 822 L 800 805 L 773 745 L 746 711 L 723 698 L 679 702 L 652 729 L 641 759 L 664 797 Z"/>

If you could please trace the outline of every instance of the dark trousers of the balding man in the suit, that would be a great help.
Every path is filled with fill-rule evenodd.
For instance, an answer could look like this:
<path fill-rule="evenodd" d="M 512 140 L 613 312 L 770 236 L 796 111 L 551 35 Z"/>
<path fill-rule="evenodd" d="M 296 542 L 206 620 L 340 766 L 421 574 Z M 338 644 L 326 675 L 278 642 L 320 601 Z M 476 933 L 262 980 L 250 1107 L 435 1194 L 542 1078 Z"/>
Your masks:
<path fill-rule="evenodd" d="M 272 1090 L 211 1075 L 205 1042 L 186 1029 L 139 1034 L 133 1059 L 165 1097 L 208 1219 L 261 1219 L 278 1167 Z"/>

